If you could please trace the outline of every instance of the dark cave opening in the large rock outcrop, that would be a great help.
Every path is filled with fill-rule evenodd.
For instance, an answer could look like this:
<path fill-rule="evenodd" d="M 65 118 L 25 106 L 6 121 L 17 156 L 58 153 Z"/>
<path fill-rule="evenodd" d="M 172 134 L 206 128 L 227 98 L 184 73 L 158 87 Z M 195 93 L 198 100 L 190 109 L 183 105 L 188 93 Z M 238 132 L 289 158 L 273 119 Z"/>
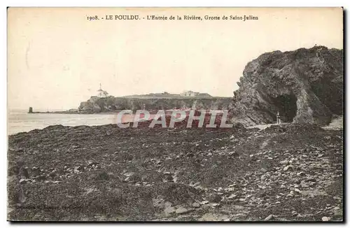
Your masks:
<path fill-rule="evenodd" d="M 283 94 L 274 98 L 274 105 L 278 108 L 282 122 L 293 122 L 297 114 L 297 97 L 294 94 Z"/>

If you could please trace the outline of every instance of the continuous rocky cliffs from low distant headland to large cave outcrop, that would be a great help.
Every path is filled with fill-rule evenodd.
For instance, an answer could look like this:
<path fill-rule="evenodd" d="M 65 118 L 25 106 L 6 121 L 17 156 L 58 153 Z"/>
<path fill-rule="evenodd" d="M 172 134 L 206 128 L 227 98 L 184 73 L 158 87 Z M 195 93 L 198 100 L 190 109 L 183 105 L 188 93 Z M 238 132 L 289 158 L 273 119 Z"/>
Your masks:
<path fill-rule="evenodd" d="M 234 97 L 98 97 L 62 114 L 115 113 L 120 110 L 230 110 L 230 122 L 249 127 L 276 122 L 327 125 L 343 115 L 343 50 L 324 46 L 267 52 L 246 65 Z M 164 94 L 163 94 L 164 95 Z"/>

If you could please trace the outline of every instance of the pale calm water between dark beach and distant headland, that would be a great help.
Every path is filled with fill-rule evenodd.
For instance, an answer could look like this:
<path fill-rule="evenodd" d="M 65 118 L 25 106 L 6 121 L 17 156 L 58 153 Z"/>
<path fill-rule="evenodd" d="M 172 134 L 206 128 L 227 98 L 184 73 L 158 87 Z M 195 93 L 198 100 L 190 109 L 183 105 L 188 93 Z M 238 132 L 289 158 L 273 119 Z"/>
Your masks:
<path fill-rule="evenodd" d="M 43 129 L 55 124 L 62 124 L 64 126 L 92 126 L 116 123 L 116 114 L 28 114 L 27 110 L 8 111 L 8 134 Z"/>

